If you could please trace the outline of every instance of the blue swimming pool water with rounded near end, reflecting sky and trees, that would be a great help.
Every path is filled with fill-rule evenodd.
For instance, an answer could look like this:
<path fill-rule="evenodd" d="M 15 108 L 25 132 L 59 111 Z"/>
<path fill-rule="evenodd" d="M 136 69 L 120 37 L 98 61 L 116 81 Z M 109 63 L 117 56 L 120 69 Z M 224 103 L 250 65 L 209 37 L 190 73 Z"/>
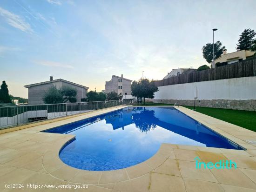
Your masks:
<path fill-rule="evenodd" d="M 162 143 L 242 149 L 173 107 L 126 107 L 45 132 L 76 135 L 60 159 L 91 171 L 134 166 Z"/>

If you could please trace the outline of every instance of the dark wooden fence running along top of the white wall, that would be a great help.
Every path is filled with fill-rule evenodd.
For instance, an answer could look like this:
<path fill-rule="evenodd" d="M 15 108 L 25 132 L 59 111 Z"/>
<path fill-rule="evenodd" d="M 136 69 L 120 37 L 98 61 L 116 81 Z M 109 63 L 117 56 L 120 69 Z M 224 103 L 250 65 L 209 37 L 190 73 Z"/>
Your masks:
<path fill-rule="evenodd" d="M 168 79 L 156 80 L 156 86 L 168 86 L 182 83 L 211 81 L 256 76 L 256 59 L 243 60 L 226 66 L 203 71 L 182 73 Z"/>

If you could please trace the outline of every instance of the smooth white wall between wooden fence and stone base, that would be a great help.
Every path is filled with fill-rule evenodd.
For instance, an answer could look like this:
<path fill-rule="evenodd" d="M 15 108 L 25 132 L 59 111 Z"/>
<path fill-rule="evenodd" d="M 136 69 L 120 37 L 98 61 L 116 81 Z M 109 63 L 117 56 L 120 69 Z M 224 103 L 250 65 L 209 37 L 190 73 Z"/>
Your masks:
<path fill-rule="evenodd" d="M 221 79 L 170 86 L 159 86 L 155 99 L 194 99 L 195 86 L 198 99 L 256 99 L 256 77 Z"/>

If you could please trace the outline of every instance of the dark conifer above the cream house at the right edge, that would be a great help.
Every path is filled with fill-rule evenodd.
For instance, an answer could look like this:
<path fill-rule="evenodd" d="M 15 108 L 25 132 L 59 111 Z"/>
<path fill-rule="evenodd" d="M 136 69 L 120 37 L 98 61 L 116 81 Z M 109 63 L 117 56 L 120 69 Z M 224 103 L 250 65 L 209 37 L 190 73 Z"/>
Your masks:
<path fill-rule="evenodd" d="M 252 29 L 244 29 L 243 33 L 240 35 L 238 44 L 236 44 L 236 50 L 249 50 L 251 49 L 254 41 L 256 32 Z"/>

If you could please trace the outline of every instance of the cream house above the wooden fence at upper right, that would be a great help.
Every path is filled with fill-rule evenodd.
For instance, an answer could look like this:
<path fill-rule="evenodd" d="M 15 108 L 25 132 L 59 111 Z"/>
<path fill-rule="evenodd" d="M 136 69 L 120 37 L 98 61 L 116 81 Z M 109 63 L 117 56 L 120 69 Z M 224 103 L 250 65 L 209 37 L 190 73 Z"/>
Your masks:
<path fill-rule="evenodd" d="M 250 50 L 242 50 L 242 51 L 236 51 L 233 53 L 227 53 L 227 50 L 225 50 L 222 55 L 215 60 L 216 66 L 224 66 L 229 65 L 231 63 L 236 63 L 240 60 L 246 60 L 250 57 L 253 57 L 254 53 Z"/>

